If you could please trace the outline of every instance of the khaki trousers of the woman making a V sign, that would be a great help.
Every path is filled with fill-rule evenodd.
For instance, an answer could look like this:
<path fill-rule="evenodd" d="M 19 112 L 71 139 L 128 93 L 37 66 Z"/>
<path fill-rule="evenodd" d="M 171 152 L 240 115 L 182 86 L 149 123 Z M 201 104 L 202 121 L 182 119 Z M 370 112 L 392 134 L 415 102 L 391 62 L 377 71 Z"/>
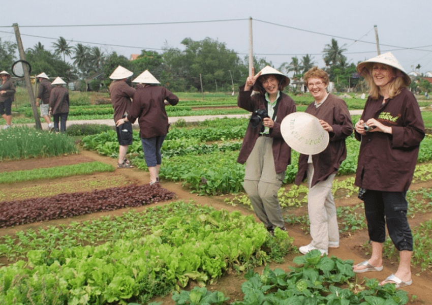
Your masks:
<path fill-rule="evenodd" d="M 257 217 L 267 229 L 285 229 L 277 191 L 282 186 L 285 172 L 276 173 L 272 150 L 273 139 L 259 137 L 246 160 L 243 188 L 248 193 Z"/>

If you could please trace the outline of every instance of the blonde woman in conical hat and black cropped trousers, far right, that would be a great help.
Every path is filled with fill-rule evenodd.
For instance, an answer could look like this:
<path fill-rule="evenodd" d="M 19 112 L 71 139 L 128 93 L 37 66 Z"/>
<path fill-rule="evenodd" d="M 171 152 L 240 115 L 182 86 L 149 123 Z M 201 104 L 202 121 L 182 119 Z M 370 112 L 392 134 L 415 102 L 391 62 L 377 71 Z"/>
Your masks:
<path fill-rule="evenodd" d="M 380 285 L 412 284 L 413 235 L 407 220 L 406 194 L 417 162 L 424 124 L 414 95 L 406 87 L 411 79 L 390 52 L 365 60 L 357 71 L 369 85 L 369 97 L 355 125 L 361 141 L 355 185 L 364 201 L 372 255 L 353 271 L 381 271 L 387 229 L 399 251 L 396 272 Z"/>

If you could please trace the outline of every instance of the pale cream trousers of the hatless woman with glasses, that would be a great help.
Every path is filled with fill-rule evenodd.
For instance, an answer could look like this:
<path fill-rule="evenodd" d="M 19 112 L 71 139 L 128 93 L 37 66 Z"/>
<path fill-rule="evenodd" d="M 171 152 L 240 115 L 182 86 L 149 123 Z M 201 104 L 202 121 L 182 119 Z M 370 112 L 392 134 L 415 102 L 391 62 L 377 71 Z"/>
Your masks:
<path fill-rule="evenodd" d="M 335 174 L 330 175 L 325 181 L 318 182 L 311 188 L 314 176 L 314 165 L 307 167 L 307 210 L 311 222 L 312 246 L 327 250 L 328 242 L 339 243 L 339 228 L 337 226 L 336 205 L 331 186 Z"/>

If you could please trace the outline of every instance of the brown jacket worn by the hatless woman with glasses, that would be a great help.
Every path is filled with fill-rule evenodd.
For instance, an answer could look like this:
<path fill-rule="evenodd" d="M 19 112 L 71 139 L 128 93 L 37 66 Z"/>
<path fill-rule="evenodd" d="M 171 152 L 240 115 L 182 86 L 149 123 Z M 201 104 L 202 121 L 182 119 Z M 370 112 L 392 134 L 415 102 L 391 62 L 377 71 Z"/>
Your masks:
<path fill-rule="evenodd" d="M 345 139 L 353 133 L 353 123 L 347 104 L 344 100 L 329 94 L 327 99 L 318 108 L 315 102 L 307 106 L 306 113 L 316 116 L 331 125 L 333 132 L 329 133 L 327 148 L 317 155 L 313 155 L 314 176 L 312 186 L 324 181 L 337 172 L 342 161 L 347 158 Z M 300 154 L 298 158 L 298 171 L 295 184 L 300 185 L 306 177 L 308 155 Z"/>

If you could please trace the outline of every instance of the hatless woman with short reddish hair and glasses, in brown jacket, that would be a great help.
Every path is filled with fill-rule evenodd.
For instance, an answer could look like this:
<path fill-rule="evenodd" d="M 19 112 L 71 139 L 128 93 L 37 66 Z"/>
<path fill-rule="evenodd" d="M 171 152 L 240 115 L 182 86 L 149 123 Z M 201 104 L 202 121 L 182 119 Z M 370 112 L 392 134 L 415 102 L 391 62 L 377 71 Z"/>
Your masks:
<path fill-rule="evenodd" d="M 327 148 L 317 155 L 300 154 L 295 184 L 307 177 L 307 209 L 311 222 L 312 241 L 299 248 L 302 254 L 318 249 L 328 254 L 328 248 L 339 247 L 336 206 L 331 194 L 334 176 L 347 157 L 345 139 L 352 134 L 353 124 L 344 100 L 329 94 L 327 73 L 317 67 L 304 74 L 304 82 L 314 97 L 306 113 L 316 116 L 329 133 Z"/>

